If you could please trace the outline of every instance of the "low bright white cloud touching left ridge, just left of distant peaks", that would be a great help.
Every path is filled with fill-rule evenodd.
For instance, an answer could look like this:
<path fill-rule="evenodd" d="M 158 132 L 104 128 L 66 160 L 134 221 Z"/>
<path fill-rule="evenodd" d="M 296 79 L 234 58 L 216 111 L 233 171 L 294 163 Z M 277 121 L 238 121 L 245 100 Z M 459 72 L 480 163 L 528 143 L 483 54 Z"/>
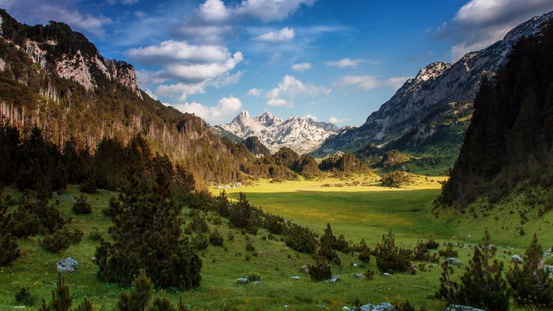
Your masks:
<path fill-rule="evenodd" d="M 172 106 L 182 112 L 194 113 L 211 125 L 218 125 L 224 123 L 226 118 L 236 115 L 242 108 L 242 102 L 237 97 L 231 96 L 219 99 L 217 106 L 206 106 L 198 102 Z"/>

